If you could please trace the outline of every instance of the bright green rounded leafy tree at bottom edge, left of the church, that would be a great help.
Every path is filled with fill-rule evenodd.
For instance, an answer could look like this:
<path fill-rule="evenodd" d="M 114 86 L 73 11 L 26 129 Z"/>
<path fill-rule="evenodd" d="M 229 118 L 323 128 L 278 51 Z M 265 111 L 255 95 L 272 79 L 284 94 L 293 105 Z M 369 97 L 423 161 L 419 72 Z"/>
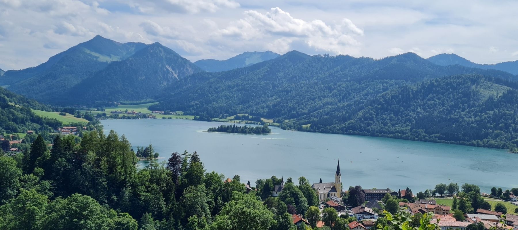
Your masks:
<path fill-rule="evenodd" d="M 214 218 L 210 229 L 268 229 L 274 224 L 274 214 L 254 195 L 234 192 L 231 202 Z"/>

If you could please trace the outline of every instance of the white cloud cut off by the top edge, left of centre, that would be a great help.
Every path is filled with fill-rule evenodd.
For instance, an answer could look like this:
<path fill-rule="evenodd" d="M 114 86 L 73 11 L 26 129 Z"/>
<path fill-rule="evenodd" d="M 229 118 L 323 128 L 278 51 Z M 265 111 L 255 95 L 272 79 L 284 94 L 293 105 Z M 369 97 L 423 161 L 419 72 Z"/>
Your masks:
<path fill-rule="evenodd" d="M 157 0 L 157 1 L 135 1 L 129 5 L 143 13 L 160 11 L 199 13 L 215 12 L 221 8 L 237 8 L 239 3 L 233 0 Z"/>

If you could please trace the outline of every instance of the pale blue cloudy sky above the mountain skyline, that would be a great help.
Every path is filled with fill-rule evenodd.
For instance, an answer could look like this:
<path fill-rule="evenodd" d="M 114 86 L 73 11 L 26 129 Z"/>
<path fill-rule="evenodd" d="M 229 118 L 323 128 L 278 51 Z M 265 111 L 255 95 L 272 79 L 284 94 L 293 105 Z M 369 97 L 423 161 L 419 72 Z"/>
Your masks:
<path fill-rule="evenodd" d="M 99 34 L 191 61 L 298 50 L 381 58 L 518 59 L 518 1 L 0 0 L 0 68 L 45 62 Z"/>

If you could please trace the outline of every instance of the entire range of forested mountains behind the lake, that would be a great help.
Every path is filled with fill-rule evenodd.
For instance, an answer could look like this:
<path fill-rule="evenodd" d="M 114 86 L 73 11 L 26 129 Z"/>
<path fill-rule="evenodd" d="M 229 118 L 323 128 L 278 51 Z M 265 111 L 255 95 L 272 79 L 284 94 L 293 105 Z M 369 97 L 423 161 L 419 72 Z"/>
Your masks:
<path fill-rule="evenodd" d="M 0 84 L 53 105 L 155 101 L 149 109 L 210 118 L 248 113 L 289 130 L 514 151 L 514 64 L 480 65 L 454 54 L 376 60 L 295 50 L 192 63 L 158 42 L 96 36 L 36 67 L 6 71 Z"/>

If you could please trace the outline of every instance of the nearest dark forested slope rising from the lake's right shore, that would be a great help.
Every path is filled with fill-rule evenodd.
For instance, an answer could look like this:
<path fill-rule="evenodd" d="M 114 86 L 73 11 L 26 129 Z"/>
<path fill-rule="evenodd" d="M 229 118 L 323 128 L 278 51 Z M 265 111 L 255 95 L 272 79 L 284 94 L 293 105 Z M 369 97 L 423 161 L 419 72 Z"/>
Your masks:
<path fill-rule="evenodd" d="M 406 84 L 359 111 L 337 111 L 313 132 L 383 136 L 493 148 L 518 144 L 518 83 L 458 75 Z"/>

